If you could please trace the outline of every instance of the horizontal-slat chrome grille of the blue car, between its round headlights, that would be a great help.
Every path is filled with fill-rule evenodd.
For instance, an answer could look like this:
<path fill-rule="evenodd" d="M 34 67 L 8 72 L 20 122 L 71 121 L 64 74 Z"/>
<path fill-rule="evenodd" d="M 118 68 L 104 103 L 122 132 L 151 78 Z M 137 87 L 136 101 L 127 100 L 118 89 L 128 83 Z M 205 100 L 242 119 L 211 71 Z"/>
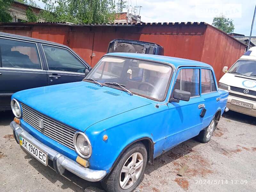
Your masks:
<path fill-rule="evenodd" d="M 70 128 L 64 124 L 61 124 L 47 116 L 44 116 L 41 113 L 38 113 L 34 109 L 28 107 L 27 105 L 21 103 L 22 107 L 22 118 L 23 120 L 48 136 L 49 138 L 59 142 L 66 147 L 75 150 L 73 144 L 73 136 L 76 132 L 75 129 Z M 44 121 L 44 129 L 39 127 L 39 119 L 43 119 Z"/>

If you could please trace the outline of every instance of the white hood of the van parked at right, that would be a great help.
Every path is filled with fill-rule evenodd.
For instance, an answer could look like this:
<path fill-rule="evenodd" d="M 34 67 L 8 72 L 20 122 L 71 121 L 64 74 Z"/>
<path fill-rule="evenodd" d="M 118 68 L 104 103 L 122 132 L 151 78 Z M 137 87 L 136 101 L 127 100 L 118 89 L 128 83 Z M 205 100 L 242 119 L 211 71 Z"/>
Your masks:
<path fill-rule="evenodd" d="M 256 79 L 251 77 L 245 77 L 245 76 L 236 75 L 232 73 L 225 73 L 221 77 L 219 82 L 227 84 L 229 86 L 235 86 L 243 89 L 256 91 Z"/>

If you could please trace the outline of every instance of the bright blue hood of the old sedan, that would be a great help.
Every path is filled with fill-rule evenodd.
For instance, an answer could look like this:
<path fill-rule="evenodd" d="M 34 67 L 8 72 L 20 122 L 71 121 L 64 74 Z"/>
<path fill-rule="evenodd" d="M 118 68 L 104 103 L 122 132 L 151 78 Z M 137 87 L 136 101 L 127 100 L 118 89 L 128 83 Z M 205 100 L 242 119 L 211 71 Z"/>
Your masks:
<path fill-rule="evenodd" d="M 80 131 L 109 117 L 150 104 L 137 95 L 84 81 L 28 89 L 12 97 Z"/>

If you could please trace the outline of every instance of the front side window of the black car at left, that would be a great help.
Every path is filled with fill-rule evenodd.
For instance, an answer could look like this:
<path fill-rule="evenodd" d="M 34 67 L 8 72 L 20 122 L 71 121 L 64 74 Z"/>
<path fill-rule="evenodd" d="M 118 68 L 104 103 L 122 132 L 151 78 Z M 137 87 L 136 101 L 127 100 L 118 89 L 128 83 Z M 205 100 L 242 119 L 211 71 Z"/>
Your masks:
<path fill-rule="evenodd" d="M 42 45 L 49 70 L 85 72 L 84 64 L 70 51 L 58 47 Z"/>

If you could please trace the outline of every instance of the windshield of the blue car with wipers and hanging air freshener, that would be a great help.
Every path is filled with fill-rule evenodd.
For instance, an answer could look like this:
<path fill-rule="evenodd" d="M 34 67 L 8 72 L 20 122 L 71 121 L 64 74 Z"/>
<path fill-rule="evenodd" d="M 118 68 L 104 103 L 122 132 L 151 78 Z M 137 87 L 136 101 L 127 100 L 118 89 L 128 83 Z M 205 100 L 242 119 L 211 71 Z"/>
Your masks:
<path fill-rule="evenodd" d="M 86 78 L 121 88 L 116 84 L 109 84 L 118 83 L 133 93 L 163 100 L 171 72 L 172 68 L 162 63 L 105 56 Z"/>

